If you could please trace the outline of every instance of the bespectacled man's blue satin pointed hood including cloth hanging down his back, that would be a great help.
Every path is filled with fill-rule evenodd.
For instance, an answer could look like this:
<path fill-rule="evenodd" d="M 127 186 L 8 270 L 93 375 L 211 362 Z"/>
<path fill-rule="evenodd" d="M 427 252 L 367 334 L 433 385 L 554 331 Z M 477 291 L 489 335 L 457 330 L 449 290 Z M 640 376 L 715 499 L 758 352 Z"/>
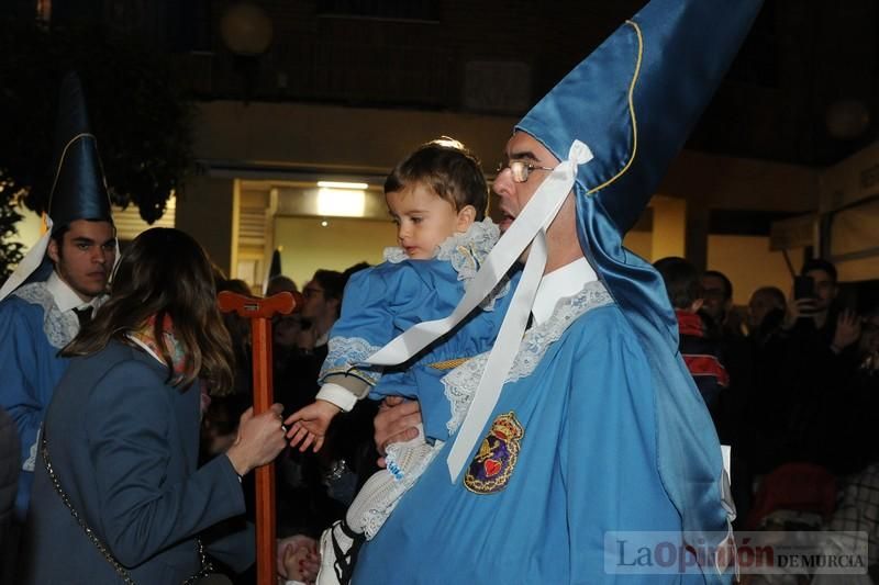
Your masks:
<path fill-rule="evenodd" d="M 516 125 L 564 160 L 575 139 L 594 159 L 575 183 L 586 257 L 644 348 L 655 387 L 657 471 L 689 542 L 728 528 L 721 452 L 678 353 L 678 330 L 656 270 L 623 248 L 671 160 L 711 100 L 760 0 L 653 0 L 570 71 Z M 708 569 L 710 582 L 726 582 Z"/>

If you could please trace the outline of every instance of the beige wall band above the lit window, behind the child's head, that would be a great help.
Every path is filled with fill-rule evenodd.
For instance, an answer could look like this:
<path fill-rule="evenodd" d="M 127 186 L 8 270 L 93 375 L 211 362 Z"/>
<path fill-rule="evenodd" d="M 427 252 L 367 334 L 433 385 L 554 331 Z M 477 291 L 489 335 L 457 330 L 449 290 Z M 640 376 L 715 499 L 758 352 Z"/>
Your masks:
<path fill-rule="evenodd" d="M 515 122 L 449 112 L 219 101 L 200 106 L 194 151 L 214 162 L 383 176 L 419 144 L 447 135 L 492 168 Z"/>

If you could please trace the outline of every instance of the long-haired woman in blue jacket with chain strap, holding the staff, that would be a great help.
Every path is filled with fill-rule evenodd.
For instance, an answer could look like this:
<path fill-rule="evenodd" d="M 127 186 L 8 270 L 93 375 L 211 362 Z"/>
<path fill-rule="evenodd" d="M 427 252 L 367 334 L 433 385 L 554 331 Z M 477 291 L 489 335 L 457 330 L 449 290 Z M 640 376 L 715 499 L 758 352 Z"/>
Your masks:
<path fill-rule="evenodd" d="M 198 468 L 201 387 L 229 392 L 233 357 L 196 240 L 141 234 L 109 301 L 63 355 L 70 365 L 43 426 L 23 581 L 177 584 L 202 572 L 203 552 L 246 569 L 253 530 L 215 525 L 244 513 L 241 476 L 283 448 L 281 407 L 247 410 L 227 452 Z"/>

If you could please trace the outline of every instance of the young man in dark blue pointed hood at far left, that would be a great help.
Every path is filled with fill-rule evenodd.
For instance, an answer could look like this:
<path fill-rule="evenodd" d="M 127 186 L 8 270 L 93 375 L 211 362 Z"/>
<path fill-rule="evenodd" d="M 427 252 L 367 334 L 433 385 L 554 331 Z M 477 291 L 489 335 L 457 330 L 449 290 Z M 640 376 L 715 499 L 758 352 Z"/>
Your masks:
<path fill-rule="evenodd" d="M 21 439 L 19 521 L 27 510 L 43 416 L 67 369 L 58 350 L 103 301 L 116 256 L 110 199 L 76 74 L 62 82 L 49 172 L 48 229 L 0 289 L 0 405 Z"/>

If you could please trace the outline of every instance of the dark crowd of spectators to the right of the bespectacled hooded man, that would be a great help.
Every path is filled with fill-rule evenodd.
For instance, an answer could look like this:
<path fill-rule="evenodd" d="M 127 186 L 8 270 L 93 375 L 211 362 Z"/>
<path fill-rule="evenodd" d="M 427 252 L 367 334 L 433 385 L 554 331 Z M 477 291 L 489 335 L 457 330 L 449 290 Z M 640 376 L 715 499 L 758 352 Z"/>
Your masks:
<path fill-rule="evenodd" d="M 822 259 L 803 265 L 790 294 L 761 286 L 742 307 L 721 272 L 700 274 L 682 258 L 655 266 L 681 357 L 732 447 L 735 527 L 844 528 L 867 532 L 875 549 L 878 300 L 846 306 L 834 265 Z"/>

